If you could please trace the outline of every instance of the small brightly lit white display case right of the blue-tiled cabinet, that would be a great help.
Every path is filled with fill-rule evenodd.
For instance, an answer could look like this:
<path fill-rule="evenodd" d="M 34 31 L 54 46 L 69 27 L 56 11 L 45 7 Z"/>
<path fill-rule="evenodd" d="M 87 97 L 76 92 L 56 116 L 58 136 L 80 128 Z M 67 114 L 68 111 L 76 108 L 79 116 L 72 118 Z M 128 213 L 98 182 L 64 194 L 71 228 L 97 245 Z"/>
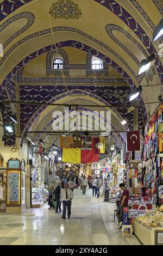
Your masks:
<path fill-rule="evenodd" d="M 32 207 L 41 207 L 43 202 L 43 187 L 32 187 Z"/>

